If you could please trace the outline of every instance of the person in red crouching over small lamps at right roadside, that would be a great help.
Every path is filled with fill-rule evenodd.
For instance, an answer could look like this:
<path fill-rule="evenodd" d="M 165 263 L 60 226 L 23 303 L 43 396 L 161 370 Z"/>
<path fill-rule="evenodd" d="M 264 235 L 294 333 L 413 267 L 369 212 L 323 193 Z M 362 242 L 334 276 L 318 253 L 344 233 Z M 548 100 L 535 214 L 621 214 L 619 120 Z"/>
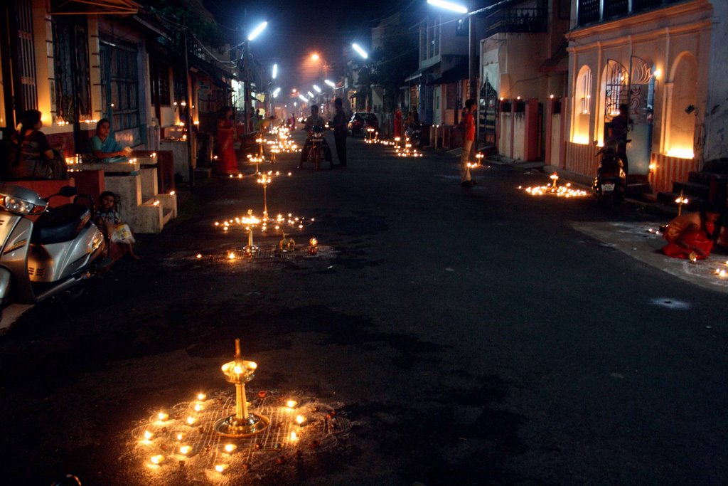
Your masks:
<path fill-rule="evenodd" d="M 708 258 L 713 249 L 713 232 L 720 212 L 714 205 L 707 205 L 699 213 L 687 213 L 673 219 L 665 228 L 665 240 L 668 244 L 662 252 L 673 258 L 695 259 Z"/>

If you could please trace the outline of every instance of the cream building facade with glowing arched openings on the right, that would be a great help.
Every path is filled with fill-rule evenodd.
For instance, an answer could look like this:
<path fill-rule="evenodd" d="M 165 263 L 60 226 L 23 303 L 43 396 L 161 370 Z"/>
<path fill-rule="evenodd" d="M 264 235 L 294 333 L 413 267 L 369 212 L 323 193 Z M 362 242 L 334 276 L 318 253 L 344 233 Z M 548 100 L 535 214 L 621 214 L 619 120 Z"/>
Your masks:
<path fill-rule="evenodd" d="M 630 176 L 657 191 L 705 151 L 713 7 L 708 0 L 574 0 L 563 168 L 596 174 L 594 145 L 627 105 Z"/>

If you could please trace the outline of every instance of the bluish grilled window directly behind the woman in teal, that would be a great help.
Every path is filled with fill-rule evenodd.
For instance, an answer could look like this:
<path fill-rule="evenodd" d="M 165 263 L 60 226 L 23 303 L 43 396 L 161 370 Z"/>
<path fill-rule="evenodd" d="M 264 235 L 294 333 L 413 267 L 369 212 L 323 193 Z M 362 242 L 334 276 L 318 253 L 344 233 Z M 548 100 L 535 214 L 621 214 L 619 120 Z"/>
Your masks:
<path fill-rule="evenodd" d="M 137 48 L 102 40 L 101 103 L 111 130 L 130 130 L 133 144 L 141 144 Z"/>

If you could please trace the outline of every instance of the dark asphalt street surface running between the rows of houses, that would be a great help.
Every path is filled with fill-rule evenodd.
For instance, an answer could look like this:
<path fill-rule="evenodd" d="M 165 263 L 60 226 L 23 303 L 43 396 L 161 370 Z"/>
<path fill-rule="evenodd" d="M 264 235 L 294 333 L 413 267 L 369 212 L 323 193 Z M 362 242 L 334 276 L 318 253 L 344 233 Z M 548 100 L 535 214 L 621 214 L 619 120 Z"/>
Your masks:
<path fill-rule="evenodd" d="M 4 484 L 142 484 L 130 428 L 226 388 L 235 337 L 256 389 L 356 424 L 347 454 L 276 484 L 728 483 L 724 295 L 571 227 L 654 216 L 537 200 L 515 187 L 547 178 L 505 168 L 462 189 L 455 162 L 351 139 L 346 170 L 283 157 L 269 210 L 316 218 L 293 238 L 335 251 L 285 264 L 224 261 L 244 237 L 213 222 L 260 211 L 261 187 L 201 181 L 142 262 L 0 337 Z"/>

